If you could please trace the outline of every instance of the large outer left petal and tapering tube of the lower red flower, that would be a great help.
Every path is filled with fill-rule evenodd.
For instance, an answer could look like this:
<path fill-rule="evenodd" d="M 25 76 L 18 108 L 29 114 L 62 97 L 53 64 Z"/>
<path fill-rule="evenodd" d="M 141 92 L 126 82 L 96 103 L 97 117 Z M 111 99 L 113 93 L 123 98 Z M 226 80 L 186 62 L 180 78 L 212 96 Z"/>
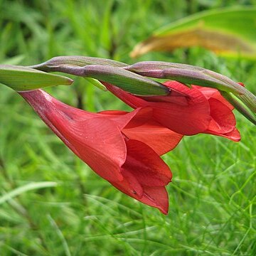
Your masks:
<path fill-rule="evenodd" d="M 121 181 L 124 138 L 115 122 L 65 105 L 42 90 L 22 92 L 44 122 L 80 159 L 108 181 Z"/>

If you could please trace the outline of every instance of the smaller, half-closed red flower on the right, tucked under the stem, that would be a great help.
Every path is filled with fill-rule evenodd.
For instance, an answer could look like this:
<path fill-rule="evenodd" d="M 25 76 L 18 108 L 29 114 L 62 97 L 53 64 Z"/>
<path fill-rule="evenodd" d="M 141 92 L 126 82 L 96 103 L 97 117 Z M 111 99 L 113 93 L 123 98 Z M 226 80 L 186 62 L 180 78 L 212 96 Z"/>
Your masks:
<path fill-rule="evenodd" d="M 235 128 L 233 106 L 218 90 L 196 85 L 188 88 L 180 82 L 168 81 L 164 82 L 171 90 L 168 96 L 138 97 L 114 85 L 105 82 L 104 85 L 134 109 L 151 107 L 154 119 L 174 132 L 184 135 L 202 132 L 226 137 L 235 142 L 240 140 L 240 133 Z"/>

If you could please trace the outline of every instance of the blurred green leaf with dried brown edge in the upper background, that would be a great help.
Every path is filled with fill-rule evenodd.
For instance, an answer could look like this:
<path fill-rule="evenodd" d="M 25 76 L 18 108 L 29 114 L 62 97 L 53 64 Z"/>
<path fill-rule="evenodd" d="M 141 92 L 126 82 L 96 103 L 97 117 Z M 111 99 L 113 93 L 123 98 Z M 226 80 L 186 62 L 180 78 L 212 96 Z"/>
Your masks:
<path fill-rule="evenodd" d="M 224 56 L 256 58 L 256 8 L 203 11 L 155 31 L 132 50 L 135 58 L 150 51 L 201 46 Z"/>

